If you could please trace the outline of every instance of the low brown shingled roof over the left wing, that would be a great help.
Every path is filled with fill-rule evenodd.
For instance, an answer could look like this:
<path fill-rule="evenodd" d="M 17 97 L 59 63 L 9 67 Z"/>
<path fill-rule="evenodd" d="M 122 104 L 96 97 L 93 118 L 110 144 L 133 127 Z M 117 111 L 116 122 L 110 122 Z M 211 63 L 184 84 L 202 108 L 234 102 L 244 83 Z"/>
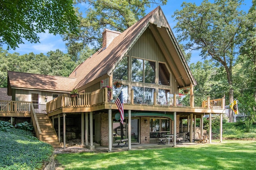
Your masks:
<path fill-rule="evenodd" d="M 75 81 L 75 78 L 8 71 L 8 86 L 11 88 L 70 92 Z"/>

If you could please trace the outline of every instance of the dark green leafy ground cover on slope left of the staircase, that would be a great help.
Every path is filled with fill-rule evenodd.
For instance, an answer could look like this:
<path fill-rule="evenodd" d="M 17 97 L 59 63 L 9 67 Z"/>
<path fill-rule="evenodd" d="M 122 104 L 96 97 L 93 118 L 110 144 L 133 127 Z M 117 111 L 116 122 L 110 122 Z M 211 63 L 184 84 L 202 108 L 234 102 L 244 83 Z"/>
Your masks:
<path fill-rule="evenodd" d="M 0 170 L 40 170 L 53 148 L 21 129 L 0 130 Z"/>

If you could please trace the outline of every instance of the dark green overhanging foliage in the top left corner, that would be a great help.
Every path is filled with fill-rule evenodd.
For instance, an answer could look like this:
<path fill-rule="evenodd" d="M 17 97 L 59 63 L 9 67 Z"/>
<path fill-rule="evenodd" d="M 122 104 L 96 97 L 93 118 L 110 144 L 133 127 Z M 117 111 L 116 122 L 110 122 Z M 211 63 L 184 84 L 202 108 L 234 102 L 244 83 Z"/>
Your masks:
<path fill-rule="evenodd" d="M 1 0 L 0 46 L 16 49 L 23 39 L 39 42 L 38 33 L 76 32 L 78 19 L 73 0 Z"/>

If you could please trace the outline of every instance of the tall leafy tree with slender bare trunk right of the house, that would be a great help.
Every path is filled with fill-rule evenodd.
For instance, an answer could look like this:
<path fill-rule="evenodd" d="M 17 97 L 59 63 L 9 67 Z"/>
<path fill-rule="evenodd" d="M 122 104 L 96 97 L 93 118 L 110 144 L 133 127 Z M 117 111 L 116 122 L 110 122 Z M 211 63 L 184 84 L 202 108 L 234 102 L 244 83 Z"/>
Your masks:
<path fill-rule="evenodd" d="M 234 99 L 232 69 L 241 45 L 240 33 L 246 14 L 239 11 L 243 0 L 204 0 L 200 6 L 184 2 L 182 10 L 174 12 L 177 20 L 175 28 L 180 41 L 188 41 L 185 48 L 201 50 L 200 55 L 210 57 L 226 71 L 229 85 L 229 102 Z M 229 121 L 233 121 L 230 110 Z"/>

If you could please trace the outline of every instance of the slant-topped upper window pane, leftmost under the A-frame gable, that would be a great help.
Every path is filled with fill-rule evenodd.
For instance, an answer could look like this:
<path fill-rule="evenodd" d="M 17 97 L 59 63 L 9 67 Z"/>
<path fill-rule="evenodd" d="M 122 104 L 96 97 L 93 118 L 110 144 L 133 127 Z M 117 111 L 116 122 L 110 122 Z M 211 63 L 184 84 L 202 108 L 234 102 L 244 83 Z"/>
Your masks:
<path fill-rule="evenodd" d="M 113 79 L 128 80 L 128 57 L 124 57 L 113 72 Z"/>

